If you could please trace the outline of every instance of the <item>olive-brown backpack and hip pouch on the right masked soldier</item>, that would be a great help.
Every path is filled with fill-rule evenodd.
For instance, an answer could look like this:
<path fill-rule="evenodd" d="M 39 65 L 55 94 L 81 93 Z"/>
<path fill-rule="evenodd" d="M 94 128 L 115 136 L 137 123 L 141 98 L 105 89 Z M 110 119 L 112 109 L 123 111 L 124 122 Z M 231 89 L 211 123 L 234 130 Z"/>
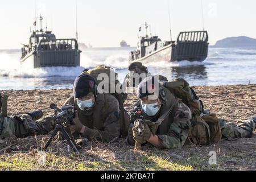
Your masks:
<path fill-rule="evenodd" d="M 195 90 L 189 86 L 187 81 L 183 78 L 177 78 L 166 82 L 164 86 L 174 93 L 175 97 L 180 98 L 191 110 L 192 119 L 188 138 L 193 143 L 203 145 L 220 141 L 222 137 L 221 127 L 216 114 L 203 114 L 203 102 L 199 100 Z"/>

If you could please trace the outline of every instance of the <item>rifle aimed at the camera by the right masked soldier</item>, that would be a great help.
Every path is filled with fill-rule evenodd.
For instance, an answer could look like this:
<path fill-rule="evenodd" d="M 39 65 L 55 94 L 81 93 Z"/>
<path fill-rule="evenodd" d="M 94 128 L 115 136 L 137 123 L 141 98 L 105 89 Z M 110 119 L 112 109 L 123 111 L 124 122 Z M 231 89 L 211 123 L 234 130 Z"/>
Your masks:
<path fill-rule="evenodd" d="M 130 121 L 134 124 L 137 134 L 142 136 L 145 128 L 145 122 L 143 120 L 141 107 L 134 107 L 134 112 L 132 112 L 130 115 Z M 135 148 L 136 150 L 139 150 L 141 148 L 141 143 L 135 141 Z"/>

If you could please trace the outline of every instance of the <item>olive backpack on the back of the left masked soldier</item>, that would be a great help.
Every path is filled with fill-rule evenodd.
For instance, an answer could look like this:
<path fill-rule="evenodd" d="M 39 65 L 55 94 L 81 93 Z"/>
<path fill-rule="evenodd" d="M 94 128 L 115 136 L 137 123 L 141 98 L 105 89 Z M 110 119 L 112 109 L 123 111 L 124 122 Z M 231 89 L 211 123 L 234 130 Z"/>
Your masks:
<path fill-rule="evenodd" d="M 117 98 L 118 102 L 119 102 L 119 109 L 121 111 L 121 136 L 122 137 L 126 137 L 128 135 L 128 128 L 129 128 L 129 114 L 128 112 L 125 110 L 123 103 L 125 102 L 126 98 L 127 98 L 127 94 L 124 92 L 121 93 L 117 93 L 116 90 L 114 90 L 114 93 L 112 93 L 111 88 L 121 88 L 122 89 L 122 84 L 118 81 L 118 80 L 111 80 L 111 75 L 112 77 L 115 76 L 115 78 L 118 78 L 118 73 L 116 73 L 114 71 L 113 68 L 107 67 L 106 65 L 97 65 L 97 67 L 86 70 L 84 72 L 82 72 L 82 74 L 88 74 L 90 76 L 92 76 L 94 78 L 94 80 L 96 81 L 96 84 L 99 85 L 101 83 L 102 80 L 98 80 L 98 75 L 100 75 L 101 73 L 105 73 L 106 75 L 108 75 L 109 77 L 109 93 L 112 94 L 115 98 Z M 104 89 L 104 88 L 102 88 Z"/>

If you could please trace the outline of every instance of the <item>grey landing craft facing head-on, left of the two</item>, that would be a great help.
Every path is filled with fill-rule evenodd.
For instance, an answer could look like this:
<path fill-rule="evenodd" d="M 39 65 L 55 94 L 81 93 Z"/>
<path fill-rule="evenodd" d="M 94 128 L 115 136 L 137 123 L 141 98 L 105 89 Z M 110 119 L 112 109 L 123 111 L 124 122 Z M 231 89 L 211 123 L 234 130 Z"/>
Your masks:
<path fill-rule="evenodd" d="M 28 45 L 23 45 L 20 62 L 29 57 L 34 59 L 34 68 L 80 66 L 80 53 L 77 39 L 56 39 L 51 31 L 43 31 L 40 15 L 40 30 L 30 36 Z M 34 23 L 36 27 L 36 22 Z"/>

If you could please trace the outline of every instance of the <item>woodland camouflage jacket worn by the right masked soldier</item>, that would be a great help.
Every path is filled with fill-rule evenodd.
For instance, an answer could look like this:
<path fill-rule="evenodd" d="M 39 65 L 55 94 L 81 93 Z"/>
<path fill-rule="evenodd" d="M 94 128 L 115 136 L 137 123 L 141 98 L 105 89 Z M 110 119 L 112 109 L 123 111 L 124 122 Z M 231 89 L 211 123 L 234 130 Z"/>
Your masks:
<path fill-rule="evenodd" d="M 171 113 L 157 126 L 156 135 L 162 142 L 162 148 L 181 148 L 188 138 L 188 131 L 191 125 L 191 111 L 182 101 L 176 102 L 177 98 L 168 90 L 163 88 L 166 93 L 166 102 L 160 107 L 159 113 L 154 117 L 149 117 L 143 113 L 143 118 L 156 122 L 161 115 L 166 113 L 172 105 L 177 103 Z M 138 101 L 135 106 L 141 106 Z"/>

